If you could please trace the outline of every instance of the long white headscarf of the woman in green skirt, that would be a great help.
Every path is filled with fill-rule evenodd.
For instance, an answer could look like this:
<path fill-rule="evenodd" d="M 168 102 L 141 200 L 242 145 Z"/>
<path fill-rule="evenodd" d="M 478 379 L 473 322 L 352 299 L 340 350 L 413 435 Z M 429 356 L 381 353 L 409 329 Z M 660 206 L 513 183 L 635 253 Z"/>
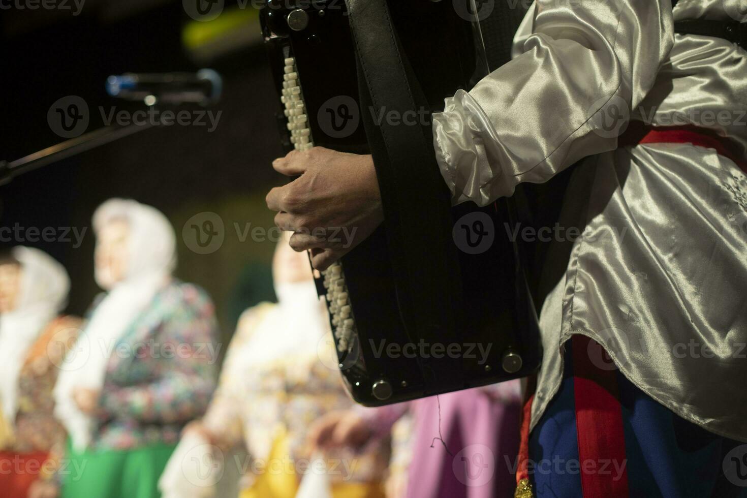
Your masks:
<path fill-rule="evenodd" d="M 117 340 L 168 283 L 176 267 L 176 236 L 164 214 L 133 200 L 110 199 L 93 214 L 93 229 L 98 234 L 103 226 L 117 220 L 125 221 L 129 228 L 125 278 L 93 310 L 55 387 L 55 414 L 78 450 L 88 446 L 94 426 L 93 419 L 78 410 L 73 391 L 76 387 L 101 390 Z"/>

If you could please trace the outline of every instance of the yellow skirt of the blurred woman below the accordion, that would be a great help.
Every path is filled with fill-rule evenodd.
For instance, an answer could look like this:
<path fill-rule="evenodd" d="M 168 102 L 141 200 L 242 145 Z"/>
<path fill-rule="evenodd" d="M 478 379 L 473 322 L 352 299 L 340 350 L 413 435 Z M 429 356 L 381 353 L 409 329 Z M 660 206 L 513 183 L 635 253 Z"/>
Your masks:
<path fill-rule="evenodd" d="M 289 455 L 288 438 L 280 435 L 270 449 L 269 461 L 280 461 Z M 295 473 L 265 472 L 257 476 L 251 488 L 241 491 L 239 498 L 294 498 L 299 479 Z M 381 482 L 342 482 L 332 484 L 332 498 L 385 498 Z"/>

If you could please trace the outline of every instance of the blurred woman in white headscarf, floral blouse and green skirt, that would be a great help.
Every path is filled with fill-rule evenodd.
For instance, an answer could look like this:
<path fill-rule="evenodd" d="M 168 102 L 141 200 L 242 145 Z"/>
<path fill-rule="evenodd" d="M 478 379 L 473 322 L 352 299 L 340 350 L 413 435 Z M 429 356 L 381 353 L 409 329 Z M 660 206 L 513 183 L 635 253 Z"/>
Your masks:
<path fill-rule="evenodd" d="M 185 423 L 215 385 L 217 324 L 208 296 L 176 281 L 169 221 L 111 199 L 93 215 L 96 300 L 66 357 L 55 414 L 69 433 L 58 472 L 63 497 L 157 497 L 156 483 Z M 56 496 L 51 483 L 34 497 Z"/>

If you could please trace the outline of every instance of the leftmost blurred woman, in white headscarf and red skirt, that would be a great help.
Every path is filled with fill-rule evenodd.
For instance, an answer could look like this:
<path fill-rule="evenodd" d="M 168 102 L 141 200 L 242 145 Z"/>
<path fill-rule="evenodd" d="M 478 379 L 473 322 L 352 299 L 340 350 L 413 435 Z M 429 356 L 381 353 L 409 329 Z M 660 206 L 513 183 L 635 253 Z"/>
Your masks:
<path fill-rule="evenodd" d="M 61 316 L 70 281 L 39 249 L 17 246 L 0 256 L 0 493 L 26 498 L 49 479 L 65 446 L 52 390 L 81 321 Z"/>

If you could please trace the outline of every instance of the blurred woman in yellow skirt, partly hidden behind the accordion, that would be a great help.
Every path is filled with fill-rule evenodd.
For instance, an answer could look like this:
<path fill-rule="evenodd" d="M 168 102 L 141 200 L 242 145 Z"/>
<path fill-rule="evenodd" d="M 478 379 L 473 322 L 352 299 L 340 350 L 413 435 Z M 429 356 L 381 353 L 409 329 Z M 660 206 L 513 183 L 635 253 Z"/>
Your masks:
<path fill-rule="evenodd" d="M 383 497 L 388 438 L 363 449 L 320 455 L 326 469 L 309 453 L 306 437 L 311 423 L 329 411 L 350 408 L 353 402 L 336 370 L 324 303 L 317 296 L 309 258 L 294 252 L 287 237 L 277 246 L 273 279 L 279 302 L 262 303 L 241 316 L 208 412 L 187 426 L 185 440 L 190 442 L 180 445 L 174 454 L 179 461 L 170 462 L 161 479 L 164 497 L 210 495 L 199 484 L 192 485 L 199 476 L 184 458 L 204 449 L 205 443 L 214 445 L 216 452 L 246 445 L 251 461 L 241 498 L 294 498 L 307 479 L 320 477 L 322 491 L 311 497 Z M 312 456 L 316 464 L 309 464 Z M 233 461 L 226 458 L 225 464 Z"/>

